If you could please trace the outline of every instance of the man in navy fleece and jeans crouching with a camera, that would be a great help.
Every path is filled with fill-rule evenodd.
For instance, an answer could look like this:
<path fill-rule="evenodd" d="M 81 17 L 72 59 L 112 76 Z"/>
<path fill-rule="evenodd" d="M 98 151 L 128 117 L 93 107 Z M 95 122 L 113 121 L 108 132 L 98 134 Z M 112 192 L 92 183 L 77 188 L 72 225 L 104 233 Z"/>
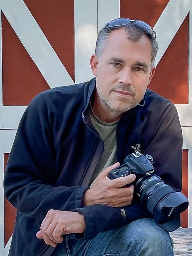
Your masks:
<path fill-rule="evenodd" d="M 144 208 L 135 175 L 108 173 L 139 150 L 181 191 L 176 108 L 147 90 L 156 34 L 120 18 L 99 32 L 91 81 L 37 95 L 25 111 L 4 188 L 17 208 L 10 255 L 174 255 L 173 241 Z M 146 91 L 147 90 L 147 91 Z"/>

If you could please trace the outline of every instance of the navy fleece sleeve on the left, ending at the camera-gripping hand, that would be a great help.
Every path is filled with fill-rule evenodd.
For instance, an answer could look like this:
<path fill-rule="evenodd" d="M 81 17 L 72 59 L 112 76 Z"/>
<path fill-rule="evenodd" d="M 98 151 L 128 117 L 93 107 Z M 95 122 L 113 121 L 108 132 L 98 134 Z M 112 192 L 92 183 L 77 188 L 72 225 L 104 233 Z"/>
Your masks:
<path fill-rule="evenodd" d="M 46 95 L 36 96 L 23 114 L 4 176 L 6 198 L 23 215 L 37 220 L 43 220 L 50 209 L 72 211 L 84 207 L 83 196 L 88 189 L 53 185 L 54 115 Z"/>

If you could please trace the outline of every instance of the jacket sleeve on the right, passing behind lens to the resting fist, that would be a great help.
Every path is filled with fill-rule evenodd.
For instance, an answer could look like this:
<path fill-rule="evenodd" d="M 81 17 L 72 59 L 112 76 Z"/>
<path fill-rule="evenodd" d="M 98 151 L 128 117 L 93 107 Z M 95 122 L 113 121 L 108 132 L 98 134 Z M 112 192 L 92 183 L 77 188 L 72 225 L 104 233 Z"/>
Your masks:
<path fill-rule="evenodd" d="M 153 121 L 150 120 L 150 124 Z M 181 191 L 182 132 L 176 108 L 171 102 L 153 129 L 152 139 L 141 153 L 152 155 L 156 161 L 155 173 L 175 191 Z M 120 212 L 122 208 L 126 217 Z M 133 220 L 153 218 L 153 215 L 141 205 L 137 195 L 133 196 L 132 204 L 125 207 L 115 208 L 98 204 L 74 211 L 84 215 L 86 224 L 83 234 L 74 235 L 76 239 L 92 239 L 99 232 L 120 228 Z"/>

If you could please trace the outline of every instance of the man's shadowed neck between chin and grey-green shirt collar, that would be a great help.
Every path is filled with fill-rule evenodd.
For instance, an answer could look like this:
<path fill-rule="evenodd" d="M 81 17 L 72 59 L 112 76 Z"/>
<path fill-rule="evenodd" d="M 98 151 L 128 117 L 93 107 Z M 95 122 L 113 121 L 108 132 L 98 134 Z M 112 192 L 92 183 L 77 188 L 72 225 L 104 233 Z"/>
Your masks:
<path fill-rule="evenodd" d="M 105 123 L 113 123 L 119 120 L 122 116 L 122 112 L 112 110 L 99 98 L 97 91 L 95 92 L 95 97 L 92 103 L 92 110 L 97 118 Z"/>

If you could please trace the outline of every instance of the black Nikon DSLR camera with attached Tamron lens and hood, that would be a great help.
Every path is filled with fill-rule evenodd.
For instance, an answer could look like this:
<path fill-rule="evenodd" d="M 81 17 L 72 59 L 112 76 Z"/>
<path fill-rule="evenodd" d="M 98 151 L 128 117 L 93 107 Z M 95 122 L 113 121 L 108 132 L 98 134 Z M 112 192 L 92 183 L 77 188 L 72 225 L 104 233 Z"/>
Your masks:
<path fill-rule="evenodd" d="M 126 156 L 124 164 L 113 169 L 108 178 L 116 179 L 134 173 L 136 179 L 125 187 L 133 184 L 134 193 L 140 197 L 141 204 L 153 214 L 156 223 L 171 232 L 180 227 L 180 213 L 187 209 L 188 199 L 154 174 L 154 163 L 152 156 L 144 156 L 137 151 Z"/>

